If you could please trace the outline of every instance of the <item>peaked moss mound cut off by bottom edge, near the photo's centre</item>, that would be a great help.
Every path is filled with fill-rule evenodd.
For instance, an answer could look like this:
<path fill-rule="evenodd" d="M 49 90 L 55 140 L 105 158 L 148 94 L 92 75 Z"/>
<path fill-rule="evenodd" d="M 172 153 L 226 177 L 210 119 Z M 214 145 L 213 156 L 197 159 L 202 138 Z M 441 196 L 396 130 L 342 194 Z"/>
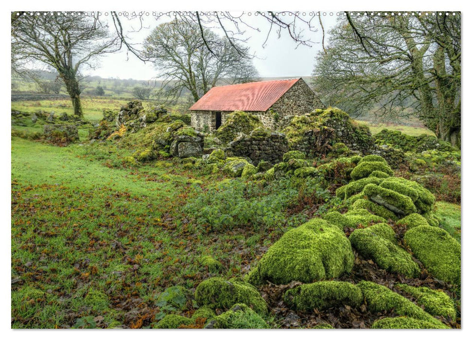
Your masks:
<path fill-rule="evenodd" d="M 205 328 L 266 329 L 270 326 L 245 304 L 236 304 L 227 312 L 214 317 Z"/>

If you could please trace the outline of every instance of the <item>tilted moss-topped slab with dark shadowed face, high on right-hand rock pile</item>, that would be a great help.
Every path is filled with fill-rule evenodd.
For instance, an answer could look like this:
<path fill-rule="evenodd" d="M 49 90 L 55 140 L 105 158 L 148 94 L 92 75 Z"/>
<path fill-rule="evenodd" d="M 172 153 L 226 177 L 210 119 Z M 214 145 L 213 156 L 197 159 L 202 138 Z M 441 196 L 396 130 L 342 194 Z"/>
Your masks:
<path fill-rule="evenodd" d="M 409 215 L 417 211 L 410 197 L 375 184 L 367 184 L 364 187 L 363 194 L 369 197 L 371 201 L 385 206 L 398 215 Z"/>

